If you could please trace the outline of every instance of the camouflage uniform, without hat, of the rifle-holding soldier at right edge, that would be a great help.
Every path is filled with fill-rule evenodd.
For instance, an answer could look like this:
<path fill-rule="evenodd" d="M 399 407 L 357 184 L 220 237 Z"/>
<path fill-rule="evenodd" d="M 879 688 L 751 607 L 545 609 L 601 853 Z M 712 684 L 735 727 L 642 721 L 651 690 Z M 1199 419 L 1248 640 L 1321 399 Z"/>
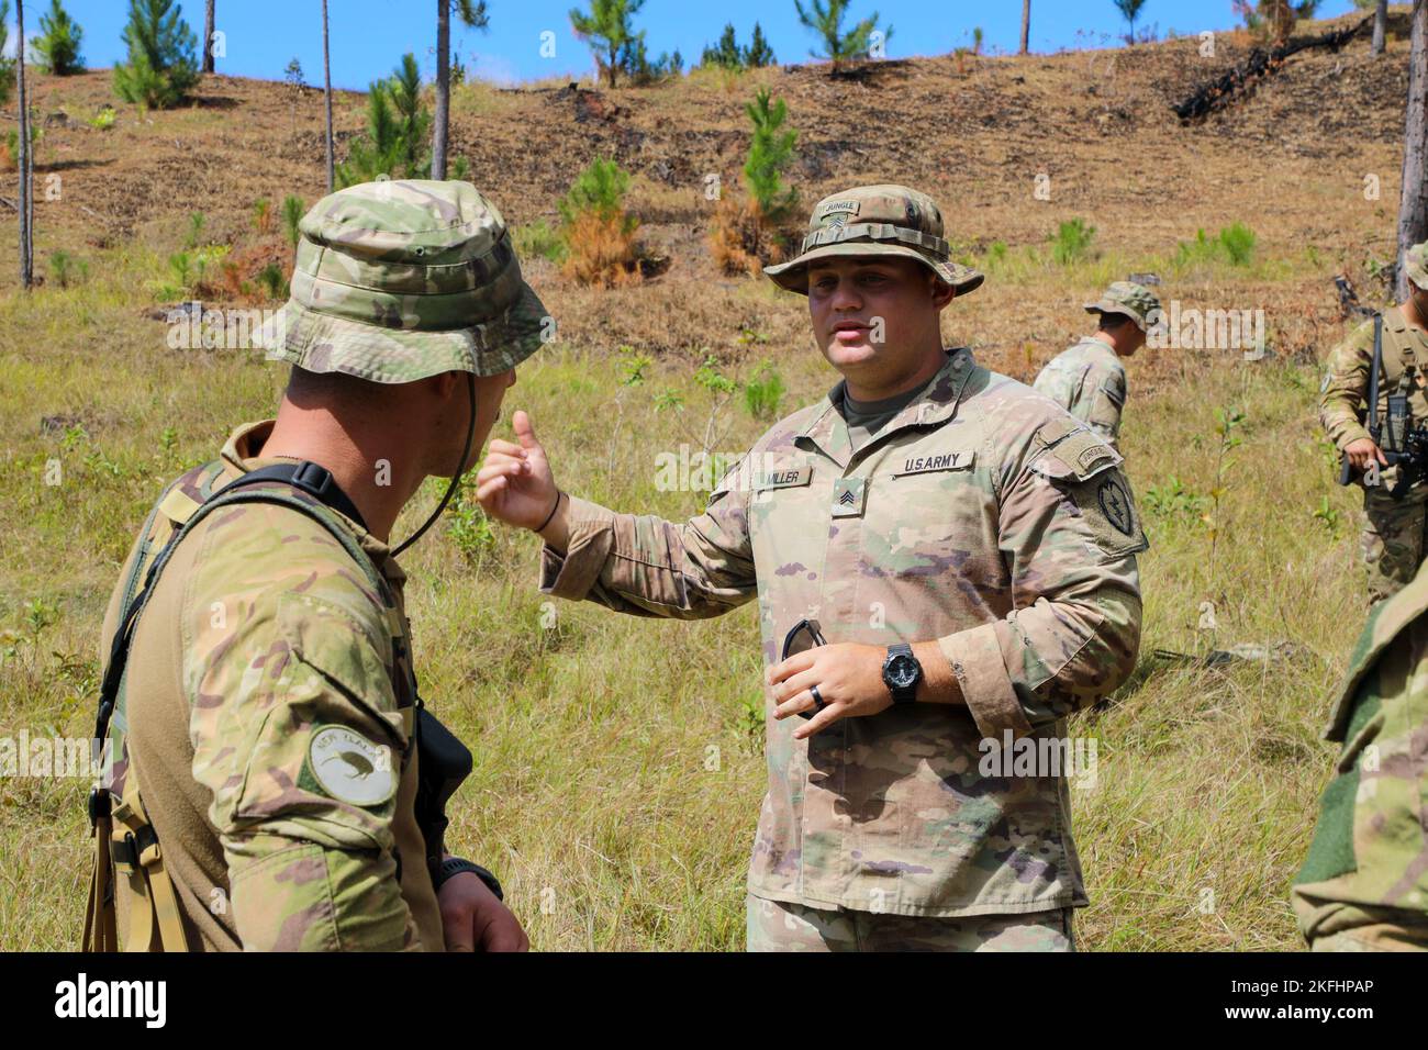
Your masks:
<path fill-rule="evenodd" d="M 1428 287 L 1428 274 L 1422 274 Z M 1417 279 L 1415 279 L 1417 280 Z M 1404 390 L 1415 423 L 1428 421 L 1428 396 L 1424 393 L 1428 367 L 1428 331 L 1411 326 L 1404 311 L 1384 310 L 1384 370 L 1378 377 L 1379 420 L 1388 417 L 1388 396 Z M 1329 353 L 1328 371 L 1319 399 L 1319 421 L 1334 447 L 1344 449 L 1368 429 L 1359 421 L 1359 406 L 1368 401 L 1369 364 L 1374 360 L 1374 321 L 1358 326 Z M 1381 439 L 1382 440 L 1382 439 Z M 1384 467 L 1378 484 L 1364 484 L 1364 527 L 1361 553 L 1368 566 L 1369 601 L 1382 601 L 1414 579 L 1422 564 L 1424 504 L 1428 484 L 1417 481 L 1402 499 L 1388 493 L 1398 483 L 1398 467 Z"/>

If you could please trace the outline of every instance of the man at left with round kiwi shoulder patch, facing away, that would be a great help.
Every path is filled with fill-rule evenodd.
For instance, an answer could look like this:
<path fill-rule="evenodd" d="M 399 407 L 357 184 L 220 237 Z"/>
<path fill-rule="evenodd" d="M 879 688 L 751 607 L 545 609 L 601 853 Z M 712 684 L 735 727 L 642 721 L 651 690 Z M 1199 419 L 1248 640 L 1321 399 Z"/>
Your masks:
<path fill-rule="evenodd" d="M 417 713 L 396 553 L 436 514 L 388 534 L 427 476 L 450 499 L 548 319 L 468 183 L 353 186 L 300 230 L 277 419 L 164 490 L 110 603 L 86 943 L 523 949 L 427 789 L 464 749 Z"/>

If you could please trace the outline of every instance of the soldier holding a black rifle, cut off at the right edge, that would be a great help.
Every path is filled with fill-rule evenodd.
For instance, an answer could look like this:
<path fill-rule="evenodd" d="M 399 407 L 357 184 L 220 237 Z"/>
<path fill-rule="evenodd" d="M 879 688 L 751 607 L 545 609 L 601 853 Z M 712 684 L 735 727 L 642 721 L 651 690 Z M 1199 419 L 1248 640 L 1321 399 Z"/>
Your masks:
<path fill-rule="evenodd" d="M 1408 249 L 1402 266 L 1409 281 L 1408 299 L 1381 311 L 1378 419 L 1388 419 L 1388 399 L 1401 394 L 1407 397 L 1412 424 L 1421 426 L 1428 423 L 1424 371 L 1428 367 L 1428 243 Z M 1319 389 L 1319 423 L 1364 486 L 1359 553 L 1368 570 L 1369 604 L 1397 594 L 1428 556 L 1424 524 L 1428 483 L 1419 479 L 1398 499 L 1391 496 L 1399 467 L 1388 466 L 1365 426 L 1372 360 L 1374 320 L 1369 319 L 1329 351 Z"/>

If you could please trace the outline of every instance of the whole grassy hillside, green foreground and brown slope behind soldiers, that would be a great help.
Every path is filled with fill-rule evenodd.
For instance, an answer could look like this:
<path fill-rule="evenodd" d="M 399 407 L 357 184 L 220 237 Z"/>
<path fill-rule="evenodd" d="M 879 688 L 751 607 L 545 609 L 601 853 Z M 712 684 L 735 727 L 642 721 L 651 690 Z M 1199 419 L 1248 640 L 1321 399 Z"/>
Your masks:
<path fill-rule="evenodd" d="M 1172 41 L 911 60 L 863 81 L 803 67 L 601 93 L 477 84 L 454 100 L 454 153 L 517 226 L 554 219 L 595 156 L 637 174 L 631 206 L 667 266 L 595 291 L 530 260 L 560 339 L 507 397 L 531 411 L 564 487 L 620 509 L 697 513 L 701 493 L 657 490 L 655 457 L 708 434 L 737 451 L 767 426 L 697 381 L 707 354 L 738 380 L 774 367 L 780 414 L 837 379 L 803 300 L 723 277 L 704 241 L 704 176 L 734 183 L 758 84 L 801 130 L 805 204 L 865 181 L 941 203 L 958 253 L 988 273 L 944 314 L 947 339 L 1008 374 L 1030 381 L 1087 330 L 1080 304 L 1131 271 L 1160 274 L 1162 297 L 1187 307 L 1265 311 L 1264 360 L 1164 350 L 1130 366 L 1122 449 L 1152 546 L 1137 673 L 1072 729 L 1100 754 L 1095 786 L 1072 800 L 1090 949 L 1298 944 L 1287 890 L 1332 760 L 1318 740 L 1325 693 L 1362 619 L 1355 497 L 1332 484 L 1314 423 L 1317 361 L 1345 330 L 1332 277 L 1384 294 L 1372 274 L 1392 256 L 1407 41 L 1378 61 L 1367 40 L 1298 56 L 1240 106 L 1180 126 L 1168 103 L 1247 44 L 1221 37 L 1214 59 Z M 36 256 L 50 279 L 21 294 L 13 264 L 0 274 L 0 737 L 89 733 L 99 623 L 133 531 L 167 479 L 268 414 L 281 389 L 254 351 L 169 349 L 161 286 L 188 216 L 206 216 L 200 243 L 248 250 L 256 199 L 311 203 L 323 189 L 316 93 L 214 77 L 198 104 L 123 109 L 109 130 L 83 123 L 109 100 L 104 73 L 41 77 L 36 96 Z M 338 99 L 337 124 L 360 127 L 360 96 Z M 1034 197 L 1040 174 L 1050 200 Z M 1077 217 L 1095 227 L 1090 251 L 1057 264 L 1047 237 Z M 1234 223 L 1255 234 L 1244 264 L 1180 247 Z M 0 206 L 0 243 L 14 231 Z M 87 274 L 61 287 L 56 250 Z M 1234 413 L 1242 444 L 1225 453 Z M 51 460 L 60 484 L 46 484 Z M 433 484 L 397 534 L 437 496 Z M 423 693 L 476 751 L 453 849 L 501 874 L 538 949 L 740 947 L 763 791 L 753 610 L 681 624 L 543 607 L 534 556 L 531 537 L 466 507 L 404 559 Z M 1272 659 L 1155 656 L 1240 643 Z M 86 790 L 0 779 L 0 946 L 77 941 Z"/>

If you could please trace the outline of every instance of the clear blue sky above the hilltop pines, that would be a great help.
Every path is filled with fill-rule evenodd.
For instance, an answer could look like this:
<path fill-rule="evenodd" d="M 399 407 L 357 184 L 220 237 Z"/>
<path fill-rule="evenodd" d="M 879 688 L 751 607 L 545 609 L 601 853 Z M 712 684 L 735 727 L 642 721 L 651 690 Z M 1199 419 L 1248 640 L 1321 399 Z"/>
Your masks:
<path fill-rule="evenodd" d="M 487 0 L 491 26 L 486 33 L 453 29 L 453 44 L 478 76 L 503 83 L 587 73 L 590 50 L 570 29 L 574 0 Z M 581 1 L 581 7 L 587 4 Z M 27 0 L 26 20 L 33 34 L 49 0 Z M 124 54 L 120 31 L 129 4 L 123 0 L 66 0 L 66 10 L 84 29 L 87 64 L 113 66 Z M 1021 33 L 1021 0 L 854 0 L 853 17 L 873 11 L 881 24 L 892 24 L 888 57 L 944 54 L 971 43 L 974 26 L 985 34 L 988 51 L 1015 51 Z M 1324 0 L 1321 17 L 1352 10 L 1351 0 Z M 203 31 L 203 0 L 184 0 L 183 16 L 196 33 Z M 366 89 L 386 76 L 404 51 L 413 51 L 427 76 L 436 69 L 436 0 L 328 0 L 331 19 L 333 84 Z M 725 21 L 747 43 L 758 21 L 781 63 L 804 61 L 814 44 L 800 24 L 793 0 L 723 0 L 718 4 L 690 0 L 645 0 L 635 24 L 645 30 L 651 57 L 675 49 L 685 66 L 698 61 Z M 14 4 L 11 3 L 11 50 Z M 227 57 L 220 73 L 278 80 L 297 57 L 308 83 L 323 79 L 321 4 L 318 0 L 218 0 L 218 29 L 227 34 Z M 1237 23 L 1231 0 L 1147 0 L 1138 26 L 1157 26 L 1164 36 L 1231 29 Z M 1112 0 L 1032 0 L 1031 49 L 1107 47 L 1124 31 Z M 554 57 L 541 56 L 541 33 L 554 33 Z"/>

